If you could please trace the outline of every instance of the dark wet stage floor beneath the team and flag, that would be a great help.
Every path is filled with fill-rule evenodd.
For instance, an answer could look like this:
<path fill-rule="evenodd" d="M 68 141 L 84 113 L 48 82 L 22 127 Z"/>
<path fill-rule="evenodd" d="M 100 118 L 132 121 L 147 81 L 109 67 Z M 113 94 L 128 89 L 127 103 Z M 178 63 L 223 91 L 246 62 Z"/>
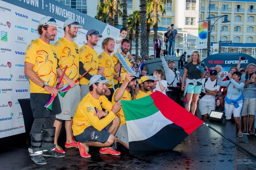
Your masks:
<path fill-rule="evenodd" d="M 209 122 L 207 122 L 209 123 Z M 235 124 L 209 123 L 228 138 L 235 140 Z M 5 138 L 10 140 L 11 138 Z M 13 139 L 13 137 L 12 137 Z M 4 143 L 7 141 L 5 140 Z M 19 142 L 19 139 L 15 141 Z M 12 141 L 14 142 L 14 141 Z M 12 143 L 11 142 L 11 143 Z M 1 142 L 2 143 L 2 142 Z M 1 144 L 0 169 L 3 170 L 234 170 L 236 168 L 235 146 L 201 125 L 172 151 L 132 156 L 121 146 L 120 156 L 103 155 L 99 148 L 90 147 L 91 158 L 82 158 L 77 148 L 64 148 L 64 158 L 48 157 L 47 165 L 32 162 L 28 146 Z"/>

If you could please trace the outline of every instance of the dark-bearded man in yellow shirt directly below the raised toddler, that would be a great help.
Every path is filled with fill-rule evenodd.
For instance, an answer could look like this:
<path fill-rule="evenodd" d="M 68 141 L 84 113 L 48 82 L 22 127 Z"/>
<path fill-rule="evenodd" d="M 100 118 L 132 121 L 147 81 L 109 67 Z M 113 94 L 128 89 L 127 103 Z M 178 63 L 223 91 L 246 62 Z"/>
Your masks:
<path fill-rule="evenodd" d="M 130 67 L 132 68 L 133 67 L 133 63 L 134 63 L 134 58 L 131 54 L 128 54 L 129 52 L 129 49 L 130 49 L 130 40 L 129 39 L 123 39 L 122 42 L 121 42 L 121 49 L 122 49 L 122 52 L 120 54 L 122 54 L 122 56 L 124 56 L 126 62 L 130 65 Z M 118 53 L 118 52 L 117 52 Z M 117 58 L 116 54 L 114 53 L 112 55 L 113 57 L 113 61 L 114 61 L 114 64 L 115 64 L 115 67 L 114 67 L 114 71 L 115 71 L 115 75 L 116 76 L 119 76 L 119 72 L 120 72 L 120 65 L 121 65 L 121 62 L 119 61 L 119 59 Z M 123 81 L 125 80 L 125 75 L 127 74 L 127 71 L 125 70 L 124 66 L 122 65 L 121 67 L 121 73 L 120 73 L 120 76 L 122 77 L 121 81 L 119 81 L 119 87 L 122 85 Z M 117 80 L 114 80 L 114 88 L 117 87 L 117 83 L 118 81 Z"/>

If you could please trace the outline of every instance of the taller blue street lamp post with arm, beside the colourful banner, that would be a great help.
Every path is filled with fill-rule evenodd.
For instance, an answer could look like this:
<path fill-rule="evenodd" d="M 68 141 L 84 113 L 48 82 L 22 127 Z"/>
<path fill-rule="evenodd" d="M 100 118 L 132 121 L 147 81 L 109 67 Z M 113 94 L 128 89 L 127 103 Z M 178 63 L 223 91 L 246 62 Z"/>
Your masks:
<path fill-rule="evenodd" d="M 230 21 L 227 19 L 228 15 L 220 15 L 220 16 L 215 16 L 215 17 L 211 17 L 210 15 L 211 12 L 211 0 L 209 2 L 209 16 L 207 19 L 208 21 L 208 34 L 207 34 L 207 57 L 209 56 L 209 52 L 210 52 L 210 46 L 211 46 L 211 32 L 212 32 L 212 28 L 211 28 L 211 19 L 214 18 L 218 18 L 212 26 L 214 26 L 214 24 L 222 17 L 224 17 L 224 20 L 221 23 L 229 23 Z"/>

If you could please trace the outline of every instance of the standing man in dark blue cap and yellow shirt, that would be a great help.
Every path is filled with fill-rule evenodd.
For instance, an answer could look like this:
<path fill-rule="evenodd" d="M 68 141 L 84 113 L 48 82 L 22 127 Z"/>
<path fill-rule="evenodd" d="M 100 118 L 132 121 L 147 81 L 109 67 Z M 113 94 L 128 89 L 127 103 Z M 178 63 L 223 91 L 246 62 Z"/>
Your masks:
<path fill-rule="evenodd" d="M 89 73 L 91 76 L 94 76 L 98 74 L 98 65 L 99 65 L 99 59 L 98 54 L 94 50 L 94 46 L 97 45 L 97 42 L 99 41 L 99 37 L 102 37 L 101 34 L 99 34 L 99 31 L 96 31 L 95 29 L 90 29 L 86 33 L 86 40 L 87 44 L 82 46 L 79 50 L 79 74 L 83 75 L 86 70 L 89 68 L 93 68 Z M 84 98 L 85 95 L 89 93 L 89 82 L 91 76 L 88 75 L 87 77 L 84 77 L 80 80 L 81 84 L 81 99 Z"/>

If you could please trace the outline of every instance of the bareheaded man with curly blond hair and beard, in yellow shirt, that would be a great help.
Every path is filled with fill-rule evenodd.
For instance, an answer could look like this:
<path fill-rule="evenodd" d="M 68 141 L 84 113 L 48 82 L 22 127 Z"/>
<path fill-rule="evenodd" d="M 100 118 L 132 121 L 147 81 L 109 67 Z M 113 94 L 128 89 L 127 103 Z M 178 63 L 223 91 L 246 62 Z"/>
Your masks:
<path fill-rule="evenodd" d="M 107 92 L 105 95 L 107 96 L 108 100 L 112 100 L 112 95 L 114 93 L 113 90 L 113 82 L 114 79 L 117 81 L 121 81 L 121 77 L 114 75 L 114 61 L 113 58 L 110 56 L 113 53 L 115 48 L 114 39 L 111 37 L 105 38 L 102 42 L 102 49 L 104 50 L 101 54 L 99 54 L 99 66 L 98 72 L 104 77 L 109 80 Z"/>

